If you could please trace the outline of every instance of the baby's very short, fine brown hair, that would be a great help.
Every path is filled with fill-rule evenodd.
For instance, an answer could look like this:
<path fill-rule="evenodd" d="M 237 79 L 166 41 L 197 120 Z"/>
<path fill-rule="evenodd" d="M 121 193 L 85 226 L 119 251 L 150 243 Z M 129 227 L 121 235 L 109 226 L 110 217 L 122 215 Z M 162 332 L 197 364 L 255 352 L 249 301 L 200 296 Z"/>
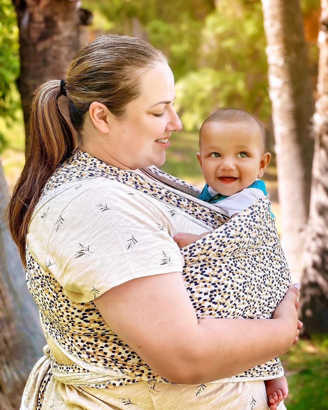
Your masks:
<path fill-rule="evenodd" d="M 249 112 L 244 111 L 243 109 L 232 108 L 232 107 L 219 108 L 216 111 L 214 111 L 209 117 L 206 118 L 206 120 L 203 122 L 202 126 L 200 127 L 199 142 L 200 142 L 200 134 L 202 132 L 202 128 L 206 123 L 212 123 L 212 122 L 233 123 L 235 121 L 255 121 L 260 128 L 260 132 L 261 132 L 262 140 L 263 140 L 263 146 L 265 148 L 265 129 L 260 119 L 257 118 L 256 115 L 250 114 Z"/>

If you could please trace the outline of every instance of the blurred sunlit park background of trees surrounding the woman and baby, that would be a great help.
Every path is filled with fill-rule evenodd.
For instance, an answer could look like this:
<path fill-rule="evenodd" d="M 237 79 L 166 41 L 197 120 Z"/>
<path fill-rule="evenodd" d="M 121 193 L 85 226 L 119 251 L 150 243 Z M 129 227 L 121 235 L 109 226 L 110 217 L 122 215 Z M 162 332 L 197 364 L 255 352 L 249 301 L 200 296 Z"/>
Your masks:
<path fill-rule="evenodd" d="M 214 109 L 239 107 L 263 121 L 273 154 L 264 179 L 278 231 L 285 237 L 285 251 L 289 257 L 297 255 L 291 263 L 295 279 L 305 266 L 301 307 L 305 333 L 312 337 L 312 342 L 301 341 L 285 363 L 287 371 L 299 371 L 288 376 L 298 392 L 290 394 L 288 408 L 328 408 L 323 397 L 328 341 L 314 336 L 328 330 L 327 0 L 321 3 L 323 34 L 316 89 L 320 0 L 0 0 L 0 158 L 7 180 L 0 178 L 0 324 L 6 329 L 0 337 L 0 354 L 7 360 L 3 365 L 0 362 L 0 392 L 10 397 L 15 386 L 8 380 L 16 380 L 16 369 L 24 360 L 17 346 L 28 350 L 28 341 L 35 337 L 36 342 L 30 343 L 34 344 L 32 356 L 43 343 L 37 324 L 33 337 L 24 328 L 24 323 L 34 323 L 36 312 L 28 305 L 28 295 L 21 293 L 27 290 L 23 269 L 5 217 L 7 183 L 10 194 L 23 167 L 32 95 L 39 84 L 66 77 L 70 60 L 81 46 L 103 34 L 122 34 L 162 50 L 175 75 L 175 108 L 184 130 L 172 135 L 164 171 L 203 186 L 196 159 L 198 130 Z M 59 98 L 64 112 L 65 104 L 66 99 Z M 312 136 L 315 154 L 307 224 Z M 306 235 L 298 235 L 301 231 Z M 15 303 L 19 300 L 27 301 L 25 310 L 23 304 Z M 16 347 L 7 343 L 11 339 L 16 340 Z M 312 352 L 315 360 L 309 362 L 307 356 L 303 360 L 305 351 Z M 11 372 L 4 372 L 5 368 Z"/>

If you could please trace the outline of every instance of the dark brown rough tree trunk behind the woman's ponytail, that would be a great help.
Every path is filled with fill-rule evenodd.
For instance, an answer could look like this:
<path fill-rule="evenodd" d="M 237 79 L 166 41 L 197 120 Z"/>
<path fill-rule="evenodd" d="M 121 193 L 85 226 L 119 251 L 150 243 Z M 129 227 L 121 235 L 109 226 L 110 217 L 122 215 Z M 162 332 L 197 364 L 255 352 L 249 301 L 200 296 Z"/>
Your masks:
<path fill-rule="evenodd" d="M 21 74 L 18 85 L 26 136 L 34 91 L 49 80 L 66 77 L 71 60 L 80 50 L 80 25 L 92 14 L 75 0 L 13 0 L 18 19 Z"/>

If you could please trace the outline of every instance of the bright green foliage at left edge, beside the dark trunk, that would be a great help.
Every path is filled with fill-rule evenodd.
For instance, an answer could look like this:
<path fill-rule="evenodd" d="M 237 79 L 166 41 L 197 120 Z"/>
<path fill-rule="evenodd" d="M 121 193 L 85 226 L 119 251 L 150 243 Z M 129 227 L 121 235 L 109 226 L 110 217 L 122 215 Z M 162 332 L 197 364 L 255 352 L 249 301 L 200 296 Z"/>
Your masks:
<path fill-rule="evenodd" d="M 7 124 L 16 118 L 19 95 L 16 79 L 19 74 L 18 27 L 11 0 L 0 0 L 0 117 Z M 0 131 L 0 150 L 6 144 Z"/>

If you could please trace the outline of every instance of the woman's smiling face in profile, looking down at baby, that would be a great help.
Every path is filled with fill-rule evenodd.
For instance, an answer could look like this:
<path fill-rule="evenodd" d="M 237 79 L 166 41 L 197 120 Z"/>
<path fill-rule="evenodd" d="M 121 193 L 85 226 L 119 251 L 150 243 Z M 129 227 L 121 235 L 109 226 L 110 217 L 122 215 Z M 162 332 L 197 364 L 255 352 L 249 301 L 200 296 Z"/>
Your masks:
<path fill-rule="evenodd" d="M 164 164 L 171 132 L 181 130 L 173 108 L 174 78 L 169 66 L 158 63 L 149 68 L 141 76 L 140 87 L 141 96 L 127 105 L 123 118 L 109 118 L 100 143 L 107 155 L 100 159 L 122 169 Z"/>

